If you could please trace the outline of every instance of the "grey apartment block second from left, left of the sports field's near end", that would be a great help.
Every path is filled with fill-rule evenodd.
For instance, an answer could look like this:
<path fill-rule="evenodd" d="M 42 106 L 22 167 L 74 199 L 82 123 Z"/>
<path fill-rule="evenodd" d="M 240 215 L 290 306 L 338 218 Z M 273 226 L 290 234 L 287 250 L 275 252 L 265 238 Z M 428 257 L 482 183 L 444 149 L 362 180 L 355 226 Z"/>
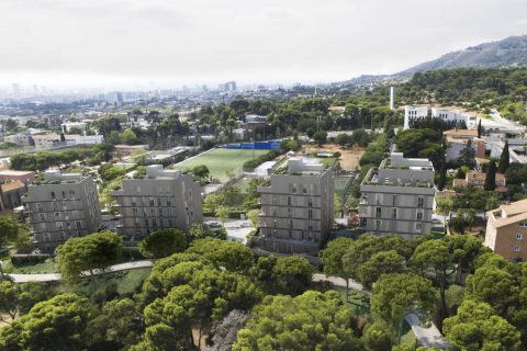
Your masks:
<path fill-rule="evenodd" d="M 191 224 L 203 223 L 200 183 L 161 165 L 147 166 L 144 179 L 124 179 L 123 188 L 110 195 L 120 212 L 119 235 L 141 239 L 167 228 L 187 233 Z"/>

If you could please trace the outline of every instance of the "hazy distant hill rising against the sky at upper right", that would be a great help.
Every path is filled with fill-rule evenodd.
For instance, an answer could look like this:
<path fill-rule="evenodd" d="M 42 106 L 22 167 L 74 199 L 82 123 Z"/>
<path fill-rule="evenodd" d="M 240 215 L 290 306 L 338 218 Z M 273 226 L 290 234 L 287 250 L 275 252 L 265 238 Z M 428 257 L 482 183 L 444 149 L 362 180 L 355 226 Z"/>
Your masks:
<path fill-rule="evenodd" d="M 397 75 L 412 76 L 428 71 L 457 67 L 505 67 L 514 63 L 527 65 L 527 35 L 511 36 L 500 42 L 484 43 L 464 50 L 449 53 L 438 59 L 403 70 Z"/>

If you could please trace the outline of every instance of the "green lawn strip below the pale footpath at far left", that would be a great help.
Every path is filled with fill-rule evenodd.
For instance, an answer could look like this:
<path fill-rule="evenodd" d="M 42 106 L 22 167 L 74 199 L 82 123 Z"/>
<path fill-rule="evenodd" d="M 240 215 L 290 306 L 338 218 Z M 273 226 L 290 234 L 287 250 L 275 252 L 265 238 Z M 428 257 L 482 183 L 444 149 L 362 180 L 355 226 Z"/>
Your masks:
<path fill-rule="evenodd" d="M 106 274 L 106 284 L 115 282 L 117 284 L 117 292 L 120 294 L 130 294 L 141 287 L 146 278 L 152 273 L 152 268 L 138 268 L 134 270 L 120 271 Z M 74 285 L 66 282 L 57 282 L 57 287 L 61 293 L 76 293 L 79 295 L 89 295 L 92 293 L 91 276 L 86 276 L 79 280 Z M 104 288 L 104 278 L 96 275 L 96 290 Z"/>

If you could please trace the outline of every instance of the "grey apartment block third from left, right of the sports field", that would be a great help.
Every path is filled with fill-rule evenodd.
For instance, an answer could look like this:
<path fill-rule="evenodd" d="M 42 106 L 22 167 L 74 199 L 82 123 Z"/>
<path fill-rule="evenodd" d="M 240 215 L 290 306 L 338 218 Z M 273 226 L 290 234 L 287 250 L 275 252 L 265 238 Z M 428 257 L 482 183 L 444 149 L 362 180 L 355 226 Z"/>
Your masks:
<path fill-rule="evenodd" d="M 260 195 L 260 248 L 280 253 L 322 249 L 334 219 L 332 168 L 318 159 L 291 158 L 288 168 L 271 174 Z"/>

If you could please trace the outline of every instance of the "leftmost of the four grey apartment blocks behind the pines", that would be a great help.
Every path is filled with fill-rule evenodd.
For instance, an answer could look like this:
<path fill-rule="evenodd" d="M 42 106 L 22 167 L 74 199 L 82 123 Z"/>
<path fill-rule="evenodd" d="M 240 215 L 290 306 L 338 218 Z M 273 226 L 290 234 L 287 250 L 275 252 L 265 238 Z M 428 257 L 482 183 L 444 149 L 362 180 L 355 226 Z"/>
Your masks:
<path fill-rule="evenodd" d="M 102 226 L 97 186 L 91 176 L 44 173 L 44 182 L 27 186 L 29 196 L 22 197 L 29 214 L 33 246 L 53 253 L 69 238 L 96 233 Z"/>

